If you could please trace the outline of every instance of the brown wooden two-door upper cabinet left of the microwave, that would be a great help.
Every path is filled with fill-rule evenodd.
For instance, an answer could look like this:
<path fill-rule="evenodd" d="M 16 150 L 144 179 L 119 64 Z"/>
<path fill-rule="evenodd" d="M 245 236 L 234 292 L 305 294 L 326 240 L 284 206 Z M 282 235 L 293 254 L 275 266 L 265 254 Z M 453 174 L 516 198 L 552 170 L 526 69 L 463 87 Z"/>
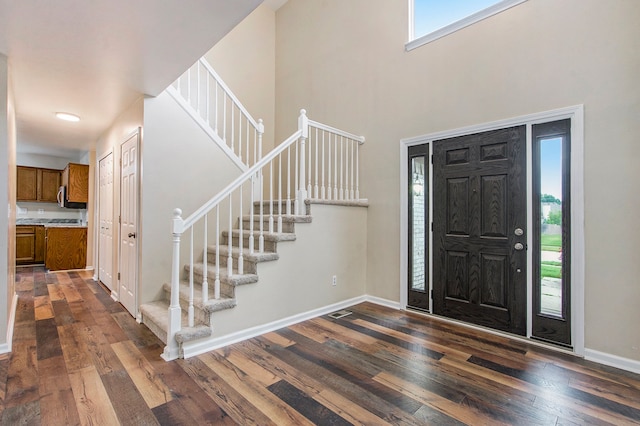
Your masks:
<path fill-rule="evenodd" d="M 17 166 L 17 201 L 55 203 L 60 187 L 60 170 Z M 87 174 L 88 176 L 88 174 Z"/>

